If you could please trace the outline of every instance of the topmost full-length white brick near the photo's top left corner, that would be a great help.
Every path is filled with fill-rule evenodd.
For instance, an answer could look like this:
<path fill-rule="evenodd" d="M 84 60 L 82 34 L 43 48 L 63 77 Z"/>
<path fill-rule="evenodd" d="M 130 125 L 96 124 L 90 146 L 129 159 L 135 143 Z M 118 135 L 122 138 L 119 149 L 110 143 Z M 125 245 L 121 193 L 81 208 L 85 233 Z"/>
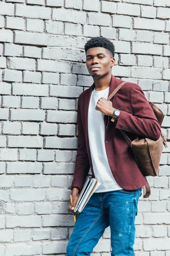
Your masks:
<path fill-rule="evenodd" d="M 50 19 L 51 9 L 41 6 L 16 5 L 16 16 L 28 18 Z"/>

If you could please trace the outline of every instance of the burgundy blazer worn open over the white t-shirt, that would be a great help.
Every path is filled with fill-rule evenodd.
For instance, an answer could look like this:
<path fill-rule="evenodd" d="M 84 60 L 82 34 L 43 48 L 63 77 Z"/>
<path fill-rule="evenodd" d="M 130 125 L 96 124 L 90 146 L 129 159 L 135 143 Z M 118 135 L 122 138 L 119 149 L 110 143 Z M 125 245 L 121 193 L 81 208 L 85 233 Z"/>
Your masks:
<path fill-rule="evenodd" d="M 112 76 L 108 96 L 122 82 L 122 80 Z M 80 190 L 90 167 L 92 177 L 95 177 L 88 140 L 88 132 L 90 132 L 88 131 L 88 106 L 94 87 L 95 85 L 92 84 L 91 87 L 80 94 L 78 100 L 78 150 L 71 188 L 78 187 Z M 104 116 L 105 146 L 111 172 L 116 182 L 123 189 L 139 189 L 146 184 L 146 181 L 136 165 L 132 151 L 120 130 L 127 131 L 131 139 L 139 135 L 158 140 L 161 136 L 161 128 L 139 85 L 127 82 L 113 96 L 111 102 L 114 108 L 120 110 L 117 122 L 112 122 L 112 117 L 110 117 L 108 131 L 106 131 L 108 116 Z"/>

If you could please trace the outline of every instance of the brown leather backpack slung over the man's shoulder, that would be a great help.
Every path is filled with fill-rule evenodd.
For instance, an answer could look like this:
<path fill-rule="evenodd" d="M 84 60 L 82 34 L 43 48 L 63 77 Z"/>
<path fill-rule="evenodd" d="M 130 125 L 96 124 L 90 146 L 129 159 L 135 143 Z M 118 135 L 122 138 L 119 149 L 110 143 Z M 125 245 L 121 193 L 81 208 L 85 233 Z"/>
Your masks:
<path fill-rule="evenodd" d="M 125 84 L 119 84 L 116 90 L 111 93 L 107 100 L 110 100 L 118 90 Z M 164 119 L 164 114 L 162 111 L 155 105 L 153 102 L 149 102 L 153 112 L 158 119 L 159 124 L 162 124 Z M 114 119 L 113 119 L 114 121 Z M 106 129 L 108 130 L 109 125 L 109 118 L 108 124 Z M 127 141 L 128 145 L 133 151 L 133 155 L 135 161 L 139 167 L 139 170 L 142 172 L 142 175 L 145 176 L 157 176 L 159 174 L 159 164 L 161 160 L 161 154 L 163 151 L 163 145 L 167 147 L 167 138 L 165 134 L 161 133 L 159 140 L 151 140 L 149 138 L 139 139 L 138 137 L 131 141 L 130 138 L 127 136 L 125 131 L 120 130 L 123 137 Z M 147 181 L 147 180 L 146 180 Z M 148 198 L 150 196 L 150 186 L 147 182 L 147 185 L 143 187 L 144 190 L 144 198 Z"/>

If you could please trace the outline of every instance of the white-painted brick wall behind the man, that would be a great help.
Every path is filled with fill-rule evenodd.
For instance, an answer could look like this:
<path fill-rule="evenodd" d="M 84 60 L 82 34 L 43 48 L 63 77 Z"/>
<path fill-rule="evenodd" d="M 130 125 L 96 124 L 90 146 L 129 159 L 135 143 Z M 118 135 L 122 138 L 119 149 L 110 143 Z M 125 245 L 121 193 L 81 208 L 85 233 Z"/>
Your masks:
<path fill-rule="evenodd" d="M 170 146 L 170 0 L 0 1 L 0 256 L 66 255 L 77 98 L 93 82 L 84 44 L 113 41 L 113 75 L 165 114 Z M 139 200 L 135 256 L 170 256 L 170 149 Z M 110 229 L 95 256 L 110 255 Z"/>

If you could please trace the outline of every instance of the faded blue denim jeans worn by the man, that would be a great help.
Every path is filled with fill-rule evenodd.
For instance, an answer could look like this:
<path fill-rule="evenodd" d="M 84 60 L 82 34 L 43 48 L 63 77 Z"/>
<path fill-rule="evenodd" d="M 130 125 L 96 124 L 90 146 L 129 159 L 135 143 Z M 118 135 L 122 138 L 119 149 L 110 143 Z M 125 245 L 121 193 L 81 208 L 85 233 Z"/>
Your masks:
<path fill-rule="evenodd" d="M 90 255 L 108 226 L 111 228 L 111 256 L 134 256 L 134 222 L 141 190 L 94 193 L 77 216 L 67 256 Z"/>

